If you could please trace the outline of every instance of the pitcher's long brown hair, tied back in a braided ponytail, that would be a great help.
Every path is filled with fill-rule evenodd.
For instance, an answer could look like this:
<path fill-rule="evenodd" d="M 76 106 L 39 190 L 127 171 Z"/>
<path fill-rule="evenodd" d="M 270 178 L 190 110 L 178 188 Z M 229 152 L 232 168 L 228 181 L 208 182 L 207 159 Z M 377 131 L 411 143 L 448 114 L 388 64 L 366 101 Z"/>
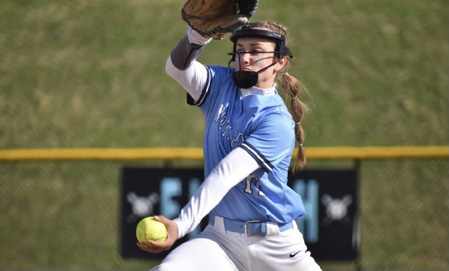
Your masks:
<path fill-rule="evenodd" d="M 266 28 L 273 32 L 280 33 L 287 39 L 287 30 L 278 22 L 274 21 L 256 21 L 249 24 L 250 28 Z M 287 40 L 285 40 L 287 43 Z M 307 106 L 302 103 L 297 97 L 300 91 L 305 90 L 305 87 L 301 82 L 290 75 L 288 70 L 290 68 L 291 59 L 287 57 L 287 62 L 284 67 L 277 72 L 276 80 L 281 81 L 282 89 L 290 98 L 290 113 L 292 115 L 293 121 L 295 122 L 295 138 L 299 144 L 298 153 L 296 154 L 297 164 L 299 168 L 302 168 L 306 163 L 306 156 L 304 147 L 302 143 L 305 139 L 304 129 L 302 128 L 301 121 L 303 119 L 303 114 L 307 112 Z"/>

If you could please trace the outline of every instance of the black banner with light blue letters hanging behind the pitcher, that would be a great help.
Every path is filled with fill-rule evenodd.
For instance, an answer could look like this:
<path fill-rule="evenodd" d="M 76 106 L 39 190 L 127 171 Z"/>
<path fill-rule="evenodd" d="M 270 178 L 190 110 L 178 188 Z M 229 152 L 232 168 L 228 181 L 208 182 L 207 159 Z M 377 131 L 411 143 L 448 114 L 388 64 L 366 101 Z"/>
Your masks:
<path fill-rule="evenodd" d="M 123 168 L 121 178 L 121 256 L 163 258 L 136 246 L 136 226 L 148 216 L 178 217 L 204 180 L 201 169 Z M 352 261 L 358 258 L 359 218 L 356 170 L 305 170 L 289 172 L 288 185 L 301 195 L 306 215 L 296 219 L 312 257 Z M 199 234 L 208 218 L 176 248 Z"/>

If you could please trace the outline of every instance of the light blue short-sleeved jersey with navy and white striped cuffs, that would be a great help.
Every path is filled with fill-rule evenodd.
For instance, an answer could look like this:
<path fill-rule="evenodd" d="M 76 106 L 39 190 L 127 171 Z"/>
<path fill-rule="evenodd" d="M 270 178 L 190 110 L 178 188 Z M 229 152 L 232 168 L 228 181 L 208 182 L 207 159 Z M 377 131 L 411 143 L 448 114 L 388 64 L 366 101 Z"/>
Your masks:
<path fill-rule="evenodd" d="M 205 176 L 233 149 L 248 152 L 261 166 L 239 182 L 211 211 L 237 221 L 288 223 L 304 215 L 301 197 L 287 186 L 295 144 L 294 122 L 284 101 L 273 96 L 242 98 L 227 67 L 206 66 L 208 82 L 194 102 L 204 113 Z"/>

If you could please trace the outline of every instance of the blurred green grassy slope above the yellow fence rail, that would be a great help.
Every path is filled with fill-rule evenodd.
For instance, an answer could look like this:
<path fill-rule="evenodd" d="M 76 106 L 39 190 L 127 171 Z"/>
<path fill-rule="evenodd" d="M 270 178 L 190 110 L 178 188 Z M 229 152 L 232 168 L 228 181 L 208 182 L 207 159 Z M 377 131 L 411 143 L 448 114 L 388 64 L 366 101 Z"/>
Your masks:
<path fill-rule="evenodd" d="M 277 2 L 254 19 L 290 29 L 292 73 L 313 98 L 301 96 L 305 144 L 447 143 L 447 2 Z M 201 146 L 203 117 L 164 72 L 181 6 L 1 3 L 0 147 Z M 226 65 L 230 49 L 214 41 L 200 60 Z"/>

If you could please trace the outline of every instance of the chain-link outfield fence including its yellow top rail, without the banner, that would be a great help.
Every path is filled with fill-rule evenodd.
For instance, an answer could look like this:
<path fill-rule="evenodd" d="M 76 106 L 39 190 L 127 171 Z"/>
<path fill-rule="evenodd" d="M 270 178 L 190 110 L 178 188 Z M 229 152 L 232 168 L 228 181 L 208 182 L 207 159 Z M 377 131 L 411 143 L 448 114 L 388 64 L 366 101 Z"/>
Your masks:
<path fill-rule="evenodd" d="M 449 146 L 306 148 L 359 167 L 361 258 L 326 270 L 449 270 Z M 202 167 L 201 148 L 0 150 L 0 270 L 148 270 L 119 256 L 120 169 Z"/>

